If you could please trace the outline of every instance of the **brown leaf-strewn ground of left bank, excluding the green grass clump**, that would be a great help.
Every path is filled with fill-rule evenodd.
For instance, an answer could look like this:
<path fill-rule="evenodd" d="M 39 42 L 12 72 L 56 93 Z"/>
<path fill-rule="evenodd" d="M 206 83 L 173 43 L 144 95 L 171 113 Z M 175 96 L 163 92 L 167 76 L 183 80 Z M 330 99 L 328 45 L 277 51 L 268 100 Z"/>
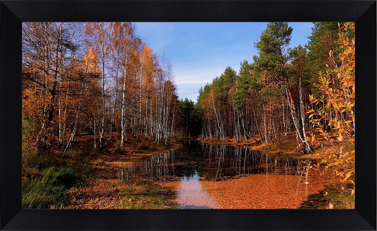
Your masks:
<path fill-rule="evenodd" d="M 144 157 L 176 149 L 180 143 L 181 140 L 172 140 L 171 144 L 156 144 L 153 139 L 149 140 L 145 137 L 135 139 L 129 136 L 129 140 L 121 149 L 120 134 L 113 133 L 112 141 L 104 150 L 99 151 L 94 149 L 93 135 L 78 134 L 71 149 L 65 155 L 60 155 L 60 151 L 55 147 L 51 150 L 48 160 L 41 160 L 41 158 L 36 160 L 40 162 L 39 166 L 42 168 L 23 169 L 23 181 L 30 181 L 28 179 L 30 177 L 27 177 L 30 175 L 42 179 L 43 169 L 47 167 L 71 167 L 77 171 L 80 180 L 64 192 L 64 202 L 60 205 L 52 205 L 50 208 L 175 207 L 176 203 L 169 200 L 173 191 L 147 179 L 127 183 L 118 179 L 116 174 L 121 169 L 135 166 Z M 37 197 L 38 195 L 28 196 Z"/>

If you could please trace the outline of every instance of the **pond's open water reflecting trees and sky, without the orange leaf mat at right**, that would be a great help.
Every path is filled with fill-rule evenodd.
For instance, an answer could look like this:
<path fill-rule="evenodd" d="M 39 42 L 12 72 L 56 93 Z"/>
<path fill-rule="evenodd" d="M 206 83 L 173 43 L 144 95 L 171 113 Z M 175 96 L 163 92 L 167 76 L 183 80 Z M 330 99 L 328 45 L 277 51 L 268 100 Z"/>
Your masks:
<path fill-rule="evenodd" d="M 177 202 L 182 208 L 222 208 L 204 189 L 203 181 L 232 180 L 257 174 L 287 175 L 294 180 L 296 175 L 305 182 L 308 177 L 303 175 L 304 166 L 306 164 L 301 160 L 248 148 L 186 141 L 178 150 L 144 158 L 135 167 L 120 170 L 117 178 L 166 182 L 177 191 Z"/>

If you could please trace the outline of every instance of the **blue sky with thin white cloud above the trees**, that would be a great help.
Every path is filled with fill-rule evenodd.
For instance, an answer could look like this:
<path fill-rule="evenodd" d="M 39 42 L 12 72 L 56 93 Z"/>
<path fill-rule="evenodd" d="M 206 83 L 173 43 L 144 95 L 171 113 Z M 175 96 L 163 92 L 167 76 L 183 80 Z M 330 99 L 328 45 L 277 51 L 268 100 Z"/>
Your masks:
<path fill-rule="evenodd" d="M 308 42 L 313 23 L 288 23 L 293 28 L 291 47 Z M 201 86 L 220 76 L 227 66 L 253 61 L 267 23 L 136 23 L 137 32 L 154 52 L 166 49 L 173 64 L 179 99 L 196 102 Z"/>

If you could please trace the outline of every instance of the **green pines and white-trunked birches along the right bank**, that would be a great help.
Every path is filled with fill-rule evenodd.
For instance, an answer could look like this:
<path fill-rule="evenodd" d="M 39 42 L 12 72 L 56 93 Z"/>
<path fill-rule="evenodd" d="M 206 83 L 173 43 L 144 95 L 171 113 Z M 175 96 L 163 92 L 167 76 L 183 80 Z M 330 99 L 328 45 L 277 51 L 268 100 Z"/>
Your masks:
<path fill-rule="evenodd" d="M 313 23 L 308 44 L 293 48 L 289 46 L 292 31 L 288 23 L 268 23 L 254 43 L 257 55 L 252 63 L 241 62 L 239 73 L 227 67 L 200 88 L 193 114 L 200 123 L 199 137 L 269 143 L 293 131 L 307 152 L 314 149 L 306 131 L 314 126 L 333 133 L 338 122 L 348 121 L 352 130 L 348 135 L 354 135 L 354 95 L 339 100 L 348 102 L 348 108 L 340 111 L 339 106 L 329 105 L 327 98 L 335 90 L 343 94 L 352 91 L 352 86 L 354 89 L 354 72 L 346 74 L 346 89 L 339 80 L 343 76 L 340 72 L 349 65 L 345 64 L 343 52 L 354 49 L 354 24 Z M 345 40 L 347 44 L 343 43 Z M 337 69 L 340 71 L 334 77 L 331 73 Z M 319 106 L 318 100 L 322 114 L 310 114 L 318 112 L 318 108 L 314 110 Z"/>

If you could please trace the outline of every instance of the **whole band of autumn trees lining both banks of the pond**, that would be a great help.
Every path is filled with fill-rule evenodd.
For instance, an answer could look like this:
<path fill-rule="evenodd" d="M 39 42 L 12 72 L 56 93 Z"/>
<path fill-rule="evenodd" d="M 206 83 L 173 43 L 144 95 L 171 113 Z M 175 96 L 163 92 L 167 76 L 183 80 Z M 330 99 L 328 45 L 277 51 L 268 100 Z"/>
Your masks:
<path fill-rule="evenodd" d="M 354 41 L 354 29 L 314 23 L 308 44 L 291 48 L 292 31 L 288 23 L 268 23 L 254 43 L 253 62 L 241 62 L 239 73 L 225 68 L 194 103 L 178 100 L 166 50 L 158 58 L 135 24 L 24 23 L 23 139 L 32 137 L 41 151 L 57 144 L 66 152 L 78 132 L 94 135 L 99 149 L 113 132 L 121 134 L 121 147 L 127 134 L 156 143 L 175 135 L 269 143 L 295 132 L 302 149 L 311 151 L 306 131 L 313 119 L 323 131 L 334 129 L 334 118 L 352 121 L 354 129 L 354 119 L 345 120 L 354 118 L 354 103 L 337 113 L 326 106 L 323 90 L 326 83 L 342 88 L 323 76 L 344 65 L 339 54 L 349 46 L 340 33 Z M 326 119 L 309 114 L 319 102 Z"/>

